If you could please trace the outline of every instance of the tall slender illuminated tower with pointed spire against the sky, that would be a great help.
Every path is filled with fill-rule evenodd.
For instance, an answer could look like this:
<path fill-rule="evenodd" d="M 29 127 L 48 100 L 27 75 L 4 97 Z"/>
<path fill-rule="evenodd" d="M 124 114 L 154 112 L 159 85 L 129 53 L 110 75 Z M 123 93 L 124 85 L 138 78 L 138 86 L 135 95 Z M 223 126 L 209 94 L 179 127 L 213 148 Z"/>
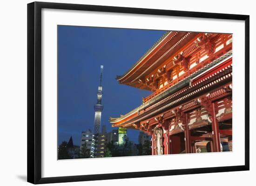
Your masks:
<path fill-rule="evenodd" d="M 101 79 L 100 79 L 100 85 L 98 87 L 97 91 L 97 103 L 94 105 L 94 138 L 92 141 L 92 148 L 91 148 L 91 156 L 96 157 L 97 152 L 97 141 L 98 141 L 98 135 L 101 129 L 101 112 L 103 110 L 103 105 L 101 104 L 102 99 L 102 73 L 103 73 L 103 65 L 101 65 Z"/>

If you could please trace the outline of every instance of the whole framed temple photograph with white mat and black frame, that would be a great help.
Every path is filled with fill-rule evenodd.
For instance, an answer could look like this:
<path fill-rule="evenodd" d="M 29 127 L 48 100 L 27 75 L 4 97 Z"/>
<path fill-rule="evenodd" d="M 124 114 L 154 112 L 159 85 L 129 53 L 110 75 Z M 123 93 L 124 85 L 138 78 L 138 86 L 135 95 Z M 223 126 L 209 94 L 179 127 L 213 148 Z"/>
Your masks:
<path fill-rule="evenodd" d="M 27 70 L 28 182 L 249 170 L 249 15 L 33 2 Z"/>

